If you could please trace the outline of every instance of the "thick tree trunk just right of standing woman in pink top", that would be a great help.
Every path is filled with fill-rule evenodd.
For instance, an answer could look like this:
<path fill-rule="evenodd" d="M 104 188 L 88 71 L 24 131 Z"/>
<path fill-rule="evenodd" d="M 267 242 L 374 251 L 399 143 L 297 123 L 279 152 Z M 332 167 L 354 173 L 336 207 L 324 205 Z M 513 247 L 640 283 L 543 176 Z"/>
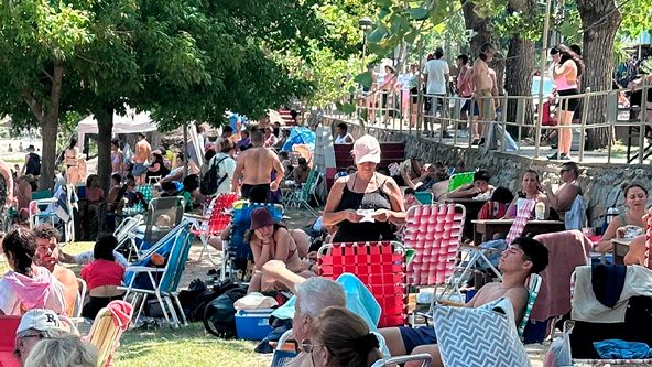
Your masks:
<path fill-rule="evenodd" d="M 582 89 L 591 91 L 611 89 L 613 73 L 613 39 L 622 17 L 615 0 L 577 0 L 577 10 L 584 32 L 583 60 L 585 73 Z M 607 98 L 591 97 L 588 106 L 583 106 L 587 123 L 607 121 Z M 608 128 L 587 130 L 587 149 L 604 148 L 609 143 Z"/>

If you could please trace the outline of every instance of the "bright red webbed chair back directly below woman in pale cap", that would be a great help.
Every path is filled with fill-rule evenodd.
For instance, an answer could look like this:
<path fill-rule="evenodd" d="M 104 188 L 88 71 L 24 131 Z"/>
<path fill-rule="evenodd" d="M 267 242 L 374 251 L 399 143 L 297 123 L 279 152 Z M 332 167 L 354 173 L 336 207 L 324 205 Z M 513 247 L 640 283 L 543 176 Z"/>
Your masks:
<path fill-rule="evenodd" d="M 378 327 L 406 320 L 405 253 L 399 242 L 329 244 L 317 252 L 319 276 L 335 280 L 349 272 L 369 288 L 382 309 Z"/>

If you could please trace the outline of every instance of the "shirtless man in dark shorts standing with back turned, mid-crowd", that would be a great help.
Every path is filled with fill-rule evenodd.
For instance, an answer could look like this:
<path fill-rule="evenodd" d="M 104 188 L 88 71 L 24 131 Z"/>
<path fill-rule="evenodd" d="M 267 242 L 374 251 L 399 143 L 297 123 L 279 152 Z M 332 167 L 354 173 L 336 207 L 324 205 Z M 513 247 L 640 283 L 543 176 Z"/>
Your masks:
<path fill-rule="evenodd" d="M 279 190 L 281 180 L 283 180 L 284 171 L 279 155 L 263 147 L 264 133 L 263 130 L 257 129 L 251 132 L 252 148 L 240 153 L 233 172 L 232 187 L 236 194 L 249 198 L 251 190 L 257 186 L 264 187 L 269 194 L 272 191 Z M 276 179 L 272 182 L 272 170 L 276 171 Z M 240 177 L 242 179 L 242 186 L 240 186 Z"/>

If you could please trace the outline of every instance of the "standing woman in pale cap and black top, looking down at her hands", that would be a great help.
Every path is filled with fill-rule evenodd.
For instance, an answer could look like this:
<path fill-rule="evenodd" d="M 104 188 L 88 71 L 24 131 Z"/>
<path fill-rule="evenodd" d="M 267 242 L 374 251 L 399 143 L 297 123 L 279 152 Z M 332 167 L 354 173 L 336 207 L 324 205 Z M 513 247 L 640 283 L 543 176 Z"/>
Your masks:
<path fill-rule="evenodd" d="M 395 225 L 405 222 L 405 207 L 394 180 L 376 172 L 380 163 L 378 140 L 371 136 L 358 139 L 354 158 L 358 170 L 333 185 L 324 225 L 337 226 L 333 242 L 392 240 Z"/>

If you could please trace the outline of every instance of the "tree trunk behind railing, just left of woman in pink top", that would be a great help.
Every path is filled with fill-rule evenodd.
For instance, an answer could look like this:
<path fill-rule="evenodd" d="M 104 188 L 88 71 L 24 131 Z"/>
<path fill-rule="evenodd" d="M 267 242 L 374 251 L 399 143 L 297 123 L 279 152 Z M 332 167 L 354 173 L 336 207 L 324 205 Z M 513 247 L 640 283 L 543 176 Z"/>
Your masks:
<path fill-rule="evenodd" d="M 531 0 L 510 0 L 508 12 L 521 12 L 529 18 L 534 8 Z M 532 67 L 534 65 L 534 42 L 521 37 L 520 33 L 513 33 L 509 43 L 509 51 L 506 61 L 504 87 L 509 96 L 530 96 L 532 94 Z M 525 101 L 525 123 L 532 121 L 532 104 Z M 517 109 L 519 101 L 509 100 L 507 106 L 507 120 L 517 121 Z M 518 122 L 518 121 L 517 121 Z M 518 128 L 508 126 L 508 131 L 518 136 Z M 529 129 L 522 130 L 522 137 L 529 134 Z"/>

